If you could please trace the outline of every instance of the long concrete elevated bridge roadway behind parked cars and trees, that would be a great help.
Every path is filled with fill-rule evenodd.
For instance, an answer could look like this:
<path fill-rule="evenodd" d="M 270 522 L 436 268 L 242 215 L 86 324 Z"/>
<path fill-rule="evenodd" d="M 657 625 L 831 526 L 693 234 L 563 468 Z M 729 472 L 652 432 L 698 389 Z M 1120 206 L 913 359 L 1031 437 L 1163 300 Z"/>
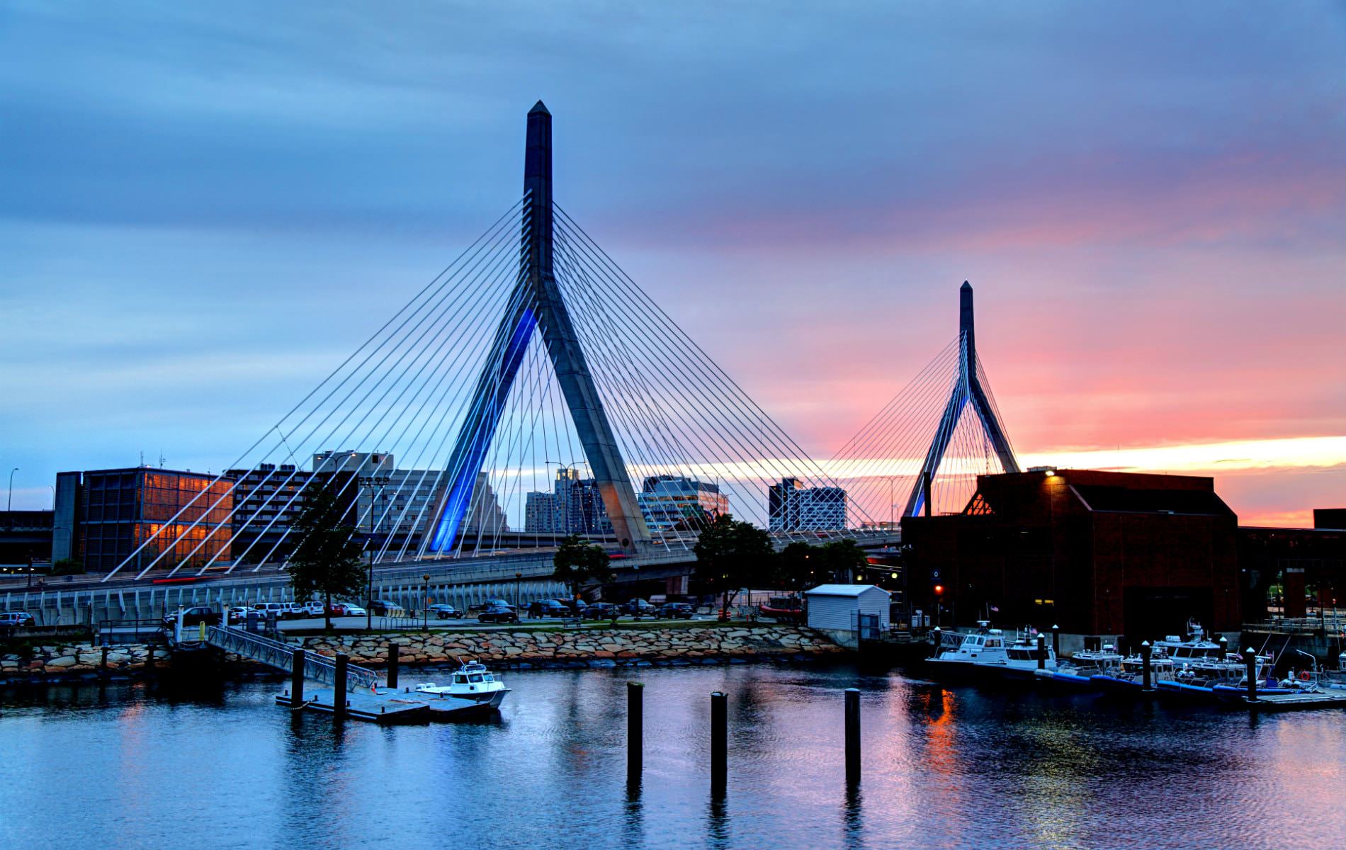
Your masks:
<path fill-rule="evenodd" d="M 864 533 L 856 541 L 865 549 L 882 549 L 899 542 L 898 533 Z M 789 541 L 778 541 L 777 549 Z M 486 598 L 505 596 L 538 598 L 556 596 L 564 586 L 552 578 L 553 550 L 505 553 L 474 558 L 424 558 L 376 564 L 371 598 L 393 601 L 404 608 L 420 607 L 429 576 L 429 597 L 460 608 Z M 616 581 L 673 578 L 690 574 L 696 554 L 690 550 L 643 553 L 612 561 Z M 48 577 L 40 588 L 26 586 L 27 578 L 0 584 L 0 611 L 27 611 L 39 624 L 97 623 L 98 620 L 140 620 L 163 616 L 178 605 L 230 605 L 262 601 L 292 601 L 289 577 L 276 566 L 257 572 L 203 576 L 199 581 L 155 585 L 164 572 L 145 578 L 100 576 Z M 178 574 L 182 577 L 182 573 Z"/>

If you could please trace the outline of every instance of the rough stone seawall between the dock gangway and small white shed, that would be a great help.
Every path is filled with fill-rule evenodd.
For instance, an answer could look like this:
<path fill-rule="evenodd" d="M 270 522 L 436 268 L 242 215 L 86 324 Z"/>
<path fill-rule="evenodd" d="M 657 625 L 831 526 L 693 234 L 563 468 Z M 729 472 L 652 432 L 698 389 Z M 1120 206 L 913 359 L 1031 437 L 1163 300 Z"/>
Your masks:
<path fill-rule="evenodd" d="M 672 659 L 817 655 L 841 652 L 825 636 L 795 625 L 709 625 L 692 628 L 592 628 L 565 631 L 429 632 L 306 638 L 323 655 L 346 652 L 351 663 L 382 666 L 396 643 L 402 664 L 441 664 L 474 658 L 501 664 L 551 666 L 610 659 L 612 663 Z"/>

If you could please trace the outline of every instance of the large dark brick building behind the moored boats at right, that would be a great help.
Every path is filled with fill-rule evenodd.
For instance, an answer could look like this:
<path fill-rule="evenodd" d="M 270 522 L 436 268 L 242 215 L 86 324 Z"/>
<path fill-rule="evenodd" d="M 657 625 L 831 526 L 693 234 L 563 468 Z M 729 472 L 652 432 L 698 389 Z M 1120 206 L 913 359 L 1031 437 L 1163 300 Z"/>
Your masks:
<path fill-rule="evenodd" d="M 1237 525 L 1209 477 L 1061 469 L 979 476 L 962 512 L 910 516 L 902 533 L 913 607 L 945 625 L 989 616 L 1139 643 L 1189 617 L 1238 631 L 1252 588 Z"/>

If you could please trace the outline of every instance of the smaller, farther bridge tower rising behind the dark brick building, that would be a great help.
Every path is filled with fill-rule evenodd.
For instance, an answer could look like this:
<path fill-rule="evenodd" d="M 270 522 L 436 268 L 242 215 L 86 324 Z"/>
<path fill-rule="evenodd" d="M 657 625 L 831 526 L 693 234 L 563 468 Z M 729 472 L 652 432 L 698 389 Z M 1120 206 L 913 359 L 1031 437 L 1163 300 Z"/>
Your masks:
<path fill-rule="evenodd" d="M 991 441 L 991 448 L 1000 459 L 1000 467 L 1005 472 L 1019 472 L 1019 461 L 1015 460 L 1014 449 L 1010 448 L 1004 425 L 981 386 L 981 374 L 977 369 L 976 325 L 972 315 L 972 284 L 962 281 L 962 286 L 958 288 L 958 377 L 949 394 L 949 401 L 944 406 L 944 413 L 940 416 L 940 425 L 930 441 L 925 463 L 921 464 L 921 475 L 917 476 L 917 481 L 911 487 L 907 506 L 902 511 L 903 516 L 915 516 L 922 507 L 929 504 L 930 481 L 934 480 L 934 473 L 940 469 L 944 453 L 949 448 L 949 440 L 953 438 L 953 430 L 958 426 L 958 418 L 969 403 Z"/>

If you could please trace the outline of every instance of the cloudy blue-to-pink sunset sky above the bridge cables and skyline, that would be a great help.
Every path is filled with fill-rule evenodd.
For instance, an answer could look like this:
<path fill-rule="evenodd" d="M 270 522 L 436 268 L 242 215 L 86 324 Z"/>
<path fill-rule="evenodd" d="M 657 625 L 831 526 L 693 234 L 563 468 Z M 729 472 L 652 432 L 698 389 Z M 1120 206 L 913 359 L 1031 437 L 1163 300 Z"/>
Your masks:
<path fill-rule="evenodd" d="M 556 196 L 814 457 L 957 332 L 1026 463 L 1346 504 L 1346 4 L 0 7 L 0 473 L 219 469 Z"/>

